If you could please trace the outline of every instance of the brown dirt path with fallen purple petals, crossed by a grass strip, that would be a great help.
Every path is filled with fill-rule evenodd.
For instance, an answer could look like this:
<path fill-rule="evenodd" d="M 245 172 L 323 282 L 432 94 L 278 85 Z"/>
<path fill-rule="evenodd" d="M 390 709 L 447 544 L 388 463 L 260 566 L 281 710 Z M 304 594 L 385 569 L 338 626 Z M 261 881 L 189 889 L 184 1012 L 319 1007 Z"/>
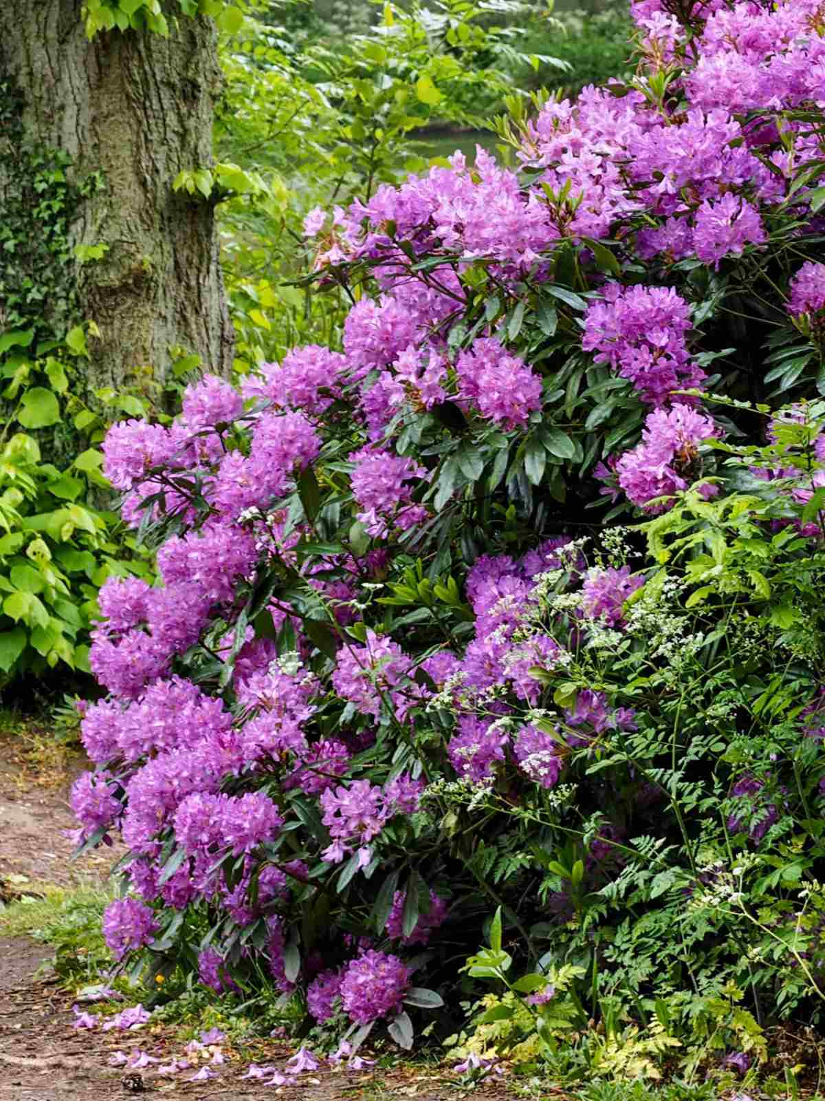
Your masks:
<path fill-rule="evenodd" d="M 0 733 L 0 890 L 7 894 L 25 892 L 26 884 L 103 883 L 123 851 L 116 846 L 70 861 L 73 844 L 62 831 L 74 826 L 68 789 L 84 763 L 48 754 L 42 745 L 32 751 Z M 267 1084 L 277 1075 L 243 1078 L 249 1064 L 226 1044 L 218 1043 L 217 1058 L 216 1046 L 186 1051 L 174 1029 L 151 1021 L 128 1032 L 103 1031 L 100 1023 L 75 1028 L 75 999 L 52 977 L 51 957 L 48 946 L 0 936 L 0 1101 L 123 1101 L 131 1094 L 197 1101 L 273 1094 L 284 1101 L 452 1101 L 464 1095 L 426 1068 L 355 1072 L 321 1062 L 297 1076 L 284 1073 L 295 1053 L 278 1040 L 261 1045 L 258 1064 L 273 1067 L 285 1081 Z M 94 1014 L 95 1005 L 80 1010 Z M 146 1058 L 152 1061 L 143 1062 Z M 183 1059 L 188 1067 L 161 1072 Z M 193 1081 L 205 1066 L 215 1077 Z M 506 1101 L 508 1095 L 495 1083 L 474 1091 L 473 1101 Z"/>

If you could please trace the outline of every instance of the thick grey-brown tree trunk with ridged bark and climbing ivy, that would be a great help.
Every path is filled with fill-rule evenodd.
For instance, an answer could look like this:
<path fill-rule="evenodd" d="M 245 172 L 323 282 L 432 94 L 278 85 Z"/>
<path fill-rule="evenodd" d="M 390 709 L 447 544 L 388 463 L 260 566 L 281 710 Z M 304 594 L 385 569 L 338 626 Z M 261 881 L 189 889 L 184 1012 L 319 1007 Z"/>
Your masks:
<path fill-rule="evenodd" d="M 212 163 L 216 31 L 206 19 L 169 22 L 166 39 L 111 31 L 89 42 L 80 0 L 0 0 L 0 222 L 33 150 L 70 159 L 66 177 L 82 197 L 68 219 L 63 290 L 40 308 L 53 328 L 97 324 L 90 388 L 154 396 L 175 358 L 197 353 L 227 374 L 232 357 L 213 206 L 172 189 L 182 170 Z M 107 248 L 78 263 L 77 246 Z M 0 266 L 7 293 L 8 283 Z M 0 299 L 0 330 L 2 312 Z"/>

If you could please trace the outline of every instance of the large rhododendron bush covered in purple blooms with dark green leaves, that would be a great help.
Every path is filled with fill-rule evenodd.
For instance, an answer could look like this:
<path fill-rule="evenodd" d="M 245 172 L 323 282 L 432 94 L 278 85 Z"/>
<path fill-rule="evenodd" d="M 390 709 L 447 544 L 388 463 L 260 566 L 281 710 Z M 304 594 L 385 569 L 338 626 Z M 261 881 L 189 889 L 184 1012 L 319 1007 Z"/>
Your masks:
<path fill-rule="evenodd" d="M 820 813 L 820 643 L 762 548 L 822 535 L 825 9 L 682 9 L 634 4 L 629 87 L 516 107 L 514 167 L 314 211 L 341 350 L 109 432 L 162 581 L 101 590 L 73 792 L 79 842 L 131 850 L 124 966 L 408 1046 L 503 905 L 521 962 L 614 994 L 675 996 L 684 948 L 818 989 L 807 942 L 744 958 L 722 887 Z"/>

